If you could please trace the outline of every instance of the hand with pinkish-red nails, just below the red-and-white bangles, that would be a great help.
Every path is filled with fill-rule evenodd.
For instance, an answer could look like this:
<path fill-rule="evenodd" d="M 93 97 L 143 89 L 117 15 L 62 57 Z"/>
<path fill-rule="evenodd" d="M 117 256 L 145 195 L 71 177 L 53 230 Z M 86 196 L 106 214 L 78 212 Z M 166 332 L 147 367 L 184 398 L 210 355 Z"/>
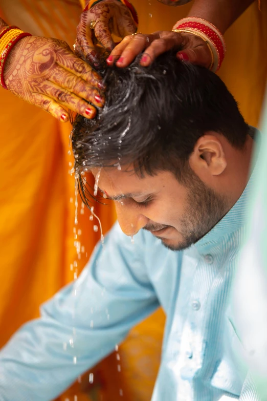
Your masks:
<path fill-rule="evenodd" d="M 116 62 L 118 67 L 126 67 L 140 52 L 145 51 L 140 64 L 147 67 L 156 57 L 170 49 L 177 49 L 177 58 L 181 60 L 206 68 L 211 64 L 209 48 L 202 38 L 172 31 L 126 36 L 110 53 L 107 64 L 112 66 Z"/>

